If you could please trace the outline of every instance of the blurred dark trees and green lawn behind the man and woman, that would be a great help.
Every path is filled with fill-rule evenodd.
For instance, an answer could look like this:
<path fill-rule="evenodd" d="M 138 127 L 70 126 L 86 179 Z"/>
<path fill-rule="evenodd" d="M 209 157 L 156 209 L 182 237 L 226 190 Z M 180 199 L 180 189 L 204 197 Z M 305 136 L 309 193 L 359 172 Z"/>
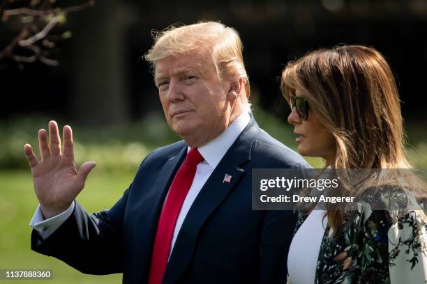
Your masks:
<path fill-rule="evenodd" d="M 98 164 L 78 199 L 89 212 L 109 208 L 149 151 L 179 140 L 141 60 L 152 31 L 178 22 L 219 20 L 239 31 L 255 118 L 292 148 L 279 91 L 286 63 L 320 47 L 375 47 L 396 75 L 410 161 L 427 168 L 425 0 L 0 0 L 0 12 L 0 269 L 53 269 L 54 283 L 121 282 L 30 250 L 38 203 L 23 145 L 37 148 L 49 120 L 71 125 L 77 164 Z"/>

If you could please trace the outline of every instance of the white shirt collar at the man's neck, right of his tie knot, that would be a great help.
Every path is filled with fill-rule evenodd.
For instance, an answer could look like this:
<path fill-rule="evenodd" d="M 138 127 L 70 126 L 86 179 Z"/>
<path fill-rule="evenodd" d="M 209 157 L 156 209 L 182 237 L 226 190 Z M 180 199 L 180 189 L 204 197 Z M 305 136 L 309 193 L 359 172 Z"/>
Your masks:
<path fill-rule="evenodd" d="M 223 159 L 227 150 L 233 145 L 234 141 L 236 141 L 237 137 L 241 134 L 241 132 L 245 129 L 245 127 L 250 122 L 250 115 L 247 111 L 241 113 L 240 116 L 236 118 L 230 124 L 223 133 L 217 136 L 215 139 L 209 141 L 207 144 L 199 147 L 198 150 L 205 161 L 212 168 L 216 168 L 218 166 L 221 159 Z M 188 151 L 190 147 L 188 147 Z"/>

